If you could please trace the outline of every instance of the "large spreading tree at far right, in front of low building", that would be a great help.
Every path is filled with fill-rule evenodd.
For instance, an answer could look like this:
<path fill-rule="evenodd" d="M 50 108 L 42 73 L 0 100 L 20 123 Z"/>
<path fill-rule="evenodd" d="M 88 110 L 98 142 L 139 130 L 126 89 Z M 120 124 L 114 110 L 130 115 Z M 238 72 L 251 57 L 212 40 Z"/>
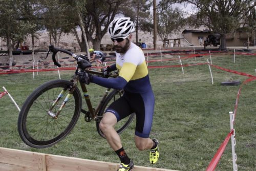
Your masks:
<path fill-rule="evenodd" d="M 226 34 L 236 31 L 255 7 L 255 0 L 163 0 L 165 6 L 173 3 L 189 3 L 195 6 L 197 18 L 195 26 L 206 26 L 210 31 L 219 33 L 220 49 L 226 49 Z"/>

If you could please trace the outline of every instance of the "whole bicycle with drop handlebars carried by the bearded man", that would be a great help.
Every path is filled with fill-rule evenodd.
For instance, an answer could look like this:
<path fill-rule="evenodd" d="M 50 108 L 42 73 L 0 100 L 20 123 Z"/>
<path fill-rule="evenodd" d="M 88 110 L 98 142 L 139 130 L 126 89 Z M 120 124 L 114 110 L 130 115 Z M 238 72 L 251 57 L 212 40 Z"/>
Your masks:
<path fill-rule="evenodd" d="M 102 71 L 90 69 L 92 66 L 85 55 L 76 55 L 65 49 L 49 46 L 49 52 L 53 52 L 52 60 L 54 65 L 61 67 L 56 60 L 56 54 L 63 52 L 71 55 L 76 61 L 74 76 L 68 80 L 50 80 L 36 90 L 26 99 L 18 116 L 18 133 L 20 138 L 29 146 L 34 148 L 50 147 L 65 138 L 74 128 L 80 116 L 84 114 L 86 122 L 96 121 L 96 128 L 99 135 L 105 138 L 99 129 L 99 122 L 105 109 L 112 101 L 117 100 L 123 94 L 123 90 L 106 89 L 99 104 L 93 108 L 86 84 L 80 82 L 83 96 L 86 100 L 88 111 L 82 109 L 81 92 L 78 89 L 78 72 L 87 72 L 103 76 Z M 117 76 L 115 73 L 111 77 Z M 135 114 L 131 114 L 123 121 L 117 123 L 115 129 L 121 134 L 132 122 Z"/>

